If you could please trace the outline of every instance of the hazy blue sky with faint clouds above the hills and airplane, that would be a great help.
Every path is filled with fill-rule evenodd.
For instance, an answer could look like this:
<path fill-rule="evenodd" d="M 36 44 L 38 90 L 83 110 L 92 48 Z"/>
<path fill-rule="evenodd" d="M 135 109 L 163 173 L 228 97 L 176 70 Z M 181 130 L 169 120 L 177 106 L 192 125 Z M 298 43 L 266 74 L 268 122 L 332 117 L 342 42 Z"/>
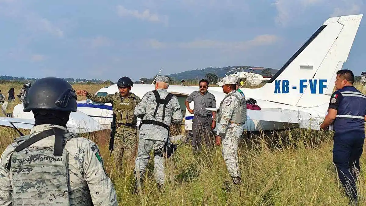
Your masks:
<path fill-rule="evenodd" d="M 206 67 L 279 69 L 362 0 L 0 0 L 0 75 L 134 81 Z M 366 70 L 363 19 L 343 68 Z"/>

